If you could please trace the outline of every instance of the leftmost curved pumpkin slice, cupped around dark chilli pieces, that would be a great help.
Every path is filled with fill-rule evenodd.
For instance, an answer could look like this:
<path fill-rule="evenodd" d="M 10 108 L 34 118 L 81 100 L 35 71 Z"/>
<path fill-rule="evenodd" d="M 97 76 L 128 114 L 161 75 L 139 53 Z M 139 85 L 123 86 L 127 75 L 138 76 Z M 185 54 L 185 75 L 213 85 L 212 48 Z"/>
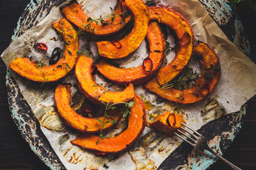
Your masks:
<path fill-rule="evenodd" d="M 63 35 L 65 41 L 63 57 L 50 66 L 43 65 L 41 62 L 31 62 L 28 58 L 18 57 L 9 64 L 14 72 L 32 81 L 50 82 L 58 81 L 73 69 L 78 59 L 77 50 L 79 45 L 78 40 L 75 40 L 77 32 L 65 18 L 54 23 L 53 28 Z"/>

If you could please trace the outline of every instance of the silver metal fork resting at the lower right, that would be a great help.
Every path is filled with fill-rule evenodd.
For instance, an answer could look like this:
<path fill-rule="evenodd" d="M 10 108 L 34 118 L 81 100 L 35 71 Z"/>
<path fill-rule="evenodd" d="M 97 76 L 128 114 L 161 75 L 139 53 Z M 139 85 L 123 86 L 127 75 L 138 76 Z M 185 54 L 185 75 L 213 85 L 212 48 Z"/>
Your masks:
<path fill-rule="evenodd" d="M 185 126 L 186 128 L 188 128 L 189 130 L 191 130 L 191 132 L 189 130 L 186 130 L 185 128 L 181 127 L 180 129 L 188 132 L 188 134 L 190 135 L 186 135 L 185 132 L 177 129 L 176 131 L 178 131 L 180 133 L 180 135 L 177 132 L 174 132 L 175 135 L 177 135 L 178 137 L 180 137 L 182 140 L 184 140 L 185 142 L 188 142 L 188 144 L 190 144 L 192 147 L 194 147 L 195 149 L 200 149 L 200 150 L 208 150 L 209 152 L 211 152 L 212 154 L 214 154 L 216 157 L 220 158 L 221 160 L 223 160 L 223 162 L 225 162 L 226 164 L 228 164 L 231 168 L 235 169 L 235 170 L 239 170 L 240 168 L 238 168 L 238 166 L 235 166 L 234 164 L 228 162 L 228 160 L 224 159 L 223 157 L 221 157 L 219 154 L 215 153 L 212 149 L 210 149 L 210 147 L 207 145 L 207 140 L 206 137 L 203 137 L 203 135 L 201 135 L 200 133 L 196 132 L 195 130 L 192 130 L 191 128 L 189 128 L 187 125 L 185 125 L 184 123 L 181 123 L 181 125 Z M 185 136 L 182 137 L 181 135 Z M 240 169 L 241 170 L 241 169 Z"/>

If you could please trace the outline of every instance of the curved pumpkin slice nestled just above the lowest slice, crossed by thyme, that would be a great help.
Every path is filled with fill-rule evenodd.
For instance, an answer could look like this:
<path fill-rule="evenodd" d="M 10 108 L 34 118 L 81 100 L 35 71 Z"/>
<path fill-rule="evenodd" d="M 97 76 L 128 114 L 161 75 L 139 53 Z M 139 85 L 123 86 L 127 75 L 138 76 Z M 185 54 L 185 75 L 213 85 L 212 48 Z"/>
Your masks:
<path fill-rule="evenodd" d="M 99 132 L 101 130 L 102 124 L 99 120 L 103 121 L 104 116 L 99 118 L 86 118 L 76 113 L 73 108 L 71 108 L 70 85 L 59 84 L 55 89 L 54 99 L 58 109 L 58 115 L 70 128 L 80 132 Z M 119 118 L 122 118 L 122 113 L 119 113 L 119 109 L 110 110 L 109 112 L 108 115 L 110 115 L 110 117 L 106 117 L 104 129 L 111 128 L 114 125 L 113 122 L 117 122 Z"/>

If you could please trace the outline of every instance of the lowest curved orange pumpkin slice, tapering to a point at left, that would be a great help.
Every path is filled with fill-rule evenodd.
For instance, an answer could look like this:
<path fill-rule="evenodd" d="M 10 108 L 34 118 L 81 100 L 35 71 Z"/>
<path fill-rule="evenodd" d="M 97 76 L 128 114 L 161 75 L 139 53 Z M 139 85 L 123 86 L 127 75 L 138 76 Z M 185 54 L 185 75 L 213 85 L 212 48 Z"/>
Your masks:
<path fill-rule="evenodd" d="M 130 147 L 142 134 L 146 125 L 146 112 L 144 104 L 139 96 L 134 97 L 134 106 L 131 108 L 131 114 L 128 119 L 128 127 L 117 137 L 105 138 L 98 140 L 97 135 L 81 134 L 72 141 L 74 145 L 78 145 L 85 149 L 97 152 L 117 153 Z"/>

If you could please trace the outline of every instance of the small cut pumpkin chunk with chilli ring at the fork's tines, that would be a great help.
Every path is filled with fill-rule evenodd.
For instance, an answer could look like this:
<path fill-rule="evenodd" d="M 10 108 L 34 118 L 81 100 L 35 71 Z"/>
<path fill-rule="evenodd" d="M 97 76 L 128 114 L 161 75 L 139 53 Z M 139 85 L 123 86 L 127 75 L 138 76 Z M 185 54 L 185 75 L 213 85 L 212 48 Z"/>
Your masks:
<path fill-rule="evenodd" d="M 177 113 L 165 112 L 157 116 L 149 125 L 166 135 L 173 135 L 174 130 L 181 128 L 181 123 L 186 123 Z"/>

